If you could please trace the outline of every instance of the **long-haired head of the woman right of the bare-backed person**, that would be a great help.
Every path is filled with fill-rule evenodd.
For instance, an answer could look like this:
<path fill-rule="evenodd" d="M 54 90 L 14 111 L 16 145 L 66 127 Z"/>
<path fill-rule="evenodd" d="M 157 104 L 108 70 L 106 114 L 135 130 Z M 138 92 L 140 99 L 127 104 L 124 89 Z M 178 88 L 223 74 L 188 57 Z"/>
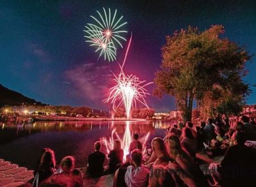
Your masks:
<path fill-rule="evenodd" d="M 175 158 L 182 152 L 180 145 L 180 139 L 176 135 L 169 135 L 166 139 L 167 142 L 167 151 L 172 158 Z"/>

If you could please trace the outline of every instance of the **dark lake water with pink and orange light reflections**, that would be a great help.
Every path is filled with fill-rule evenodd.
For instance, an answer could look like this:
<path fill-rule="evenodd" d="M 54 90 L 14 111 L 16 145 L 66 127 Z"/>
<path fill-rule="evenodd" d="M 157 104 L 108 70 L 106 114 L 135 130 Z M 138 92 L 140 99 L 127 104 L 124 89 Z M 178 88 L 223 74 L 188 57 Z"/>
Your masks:
<path fill-rule="evenodd" d="M 75 121 L 35 122 L 32 124 L 0 124 L 0 158 L 28 169 L 35 169 L 44 147 L 55 151 L 57 164 L 61 158 L 73 155 L 76 167 L 85 167 L 88 155 L 93 152 L 93 143 L 100 138 L 109 139 L 112 131 L 123 137 L 127 126 L 130 133 L 140 137 L 147 134 L 146 145 L 152 138 L 164 137 L 171 122 L 150 121 Z M 106 147 L 102 146 L 106 153 Z M 107 162 L 107 161 L 106 161 Z"/>

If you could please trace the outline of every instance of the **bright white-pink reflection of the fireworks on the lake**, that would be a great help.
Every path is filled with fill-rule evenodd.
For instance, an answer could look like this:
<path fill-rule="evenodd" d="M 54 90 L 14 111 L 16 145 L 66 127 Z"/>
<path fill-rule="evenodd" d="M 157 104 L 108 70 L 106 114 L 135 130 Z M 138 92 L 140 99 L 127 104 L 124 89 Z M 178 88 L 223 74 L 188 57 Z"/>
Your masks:
<path fill-rule="evenodd" d="M 148 132 L 146 135 L 144 135 L 142 138 L 139 139 L 142 143 L 142 155 L 146 153 L 146 143 L 147 139 L 150 135 L 150 132 Z M 114 138 L 116 137 L 116 138 Z M 133 133 L 130 132 L 130 123 L 129 121 L 126 121 L 126 128 L 125 128 L 125 133 L 123 134 L 123 138 L 121 139 L 115 129 L 112 130 L 112 134 L 109 137 L 109 140 L 106 137 L 101 138 L 101 142 L 106 146 L 106 151 L 109 154 L 110 150 L 113 150 L 114 146 L 114 140 L 118 139 L 121 142 L 121 147 L 123 149 L 123 162 L 126 160 L 126 155 L 129 154 L 129 147 L 130 143 L 132 141 Z"/>

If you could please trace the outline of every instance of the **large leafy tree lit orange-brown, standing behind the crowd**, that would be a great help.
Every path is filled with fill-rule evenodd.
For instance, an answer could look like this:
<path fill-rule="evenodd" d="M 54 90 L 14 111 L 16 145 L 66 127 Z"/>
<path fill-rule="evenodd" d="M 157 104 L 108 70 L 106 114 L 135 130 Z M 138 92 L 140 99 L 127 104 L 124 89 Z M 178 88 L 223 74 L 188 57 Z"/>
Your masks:
<path fill-rule="evenodd" d="M 174 96 L 184 122 L 191 120 L 195 100 L 200 111 L 209 115 L 228 98 L 243 103 L 250 92 L 242 78 L 251 56 L 235 42 L 220 37 L 222 33 L 222 25 L 203 32 L 189 26 L 166 37 L 154 95 Z"/>

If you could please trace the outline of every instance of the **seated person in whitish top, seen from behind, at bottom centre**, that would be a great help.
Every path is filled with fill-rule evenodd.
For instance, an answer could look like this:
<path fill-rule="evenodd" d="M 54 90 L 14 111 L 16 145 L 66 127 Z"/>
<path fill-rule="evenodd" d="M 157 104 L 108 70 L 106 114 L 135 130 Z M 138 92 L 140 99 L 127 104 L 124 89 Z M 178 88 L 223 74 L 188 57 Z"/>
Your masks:
<path fill-rule="evenodd" d="M 131 152 L 132 165 L 127 167 L 125 183 L 128 187 L 147 186 L 149 170 L 142 165 L 141 151 L 135 149 Z"/>

